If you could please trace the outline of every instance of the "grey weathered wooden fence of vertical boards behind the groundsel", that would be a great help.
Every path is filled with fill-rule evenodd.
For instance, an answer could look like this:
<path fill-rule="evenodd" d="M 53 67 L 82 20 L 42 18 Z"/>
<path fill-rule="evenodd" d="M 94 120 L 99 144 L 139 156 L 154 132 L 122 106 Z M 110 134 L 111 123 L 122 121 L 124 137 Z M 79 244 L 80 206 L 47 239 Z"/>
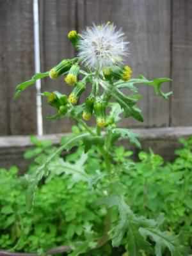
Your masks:
<path fill-rule="evenodd" d="M 141 88 L 145 122 L 129 119 L 131 127 L 192 125 L 192 1 L 191 0 L 39 0 L 41 70 L 49 70 L 74 50 L 67 40 L 71 29 L 81 31 L 93 22 L 113 21 L 131 42 L 127 63 L 134 76 L 172 77 L 164 86 L 169 101 Z M 33 0 L 0 0 L 0 135 L 36 133 L 35 86 L 13 100 L 15 85 L 34 73 Z M 43 90 L 70 88 L 45 79 Z M 52 109 L 43 102 L 44 116 Z M 44 132 L 70 131 L 70 121 L 47 121 Z"/>

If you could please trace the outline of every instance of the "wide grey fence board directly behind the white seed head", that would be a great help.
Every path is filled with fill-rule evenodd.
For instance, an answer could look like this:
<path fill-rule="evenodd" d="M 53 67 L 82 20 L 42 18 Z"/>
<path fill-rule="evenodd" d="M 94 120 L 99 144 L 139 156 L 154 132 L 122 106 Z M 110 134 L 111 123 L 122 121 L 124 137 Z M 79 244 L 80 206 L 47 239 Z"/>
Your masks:
<path fill-rule="evenodd" d="M 127 63 L 139 74 L 152 79 L 170 76 L 170 0 L 78 0 L 78 28 L 95 22 L 114 22 L 122 27 L 130 44 Z M 169 90 L 169 84 L 166 89 Z M 144 123 L 125 120 L 123 126 L 161 127 L 169 121 L 169 103 L 156 97 L 152 88 L 141 87 L 139 106 Z"/>

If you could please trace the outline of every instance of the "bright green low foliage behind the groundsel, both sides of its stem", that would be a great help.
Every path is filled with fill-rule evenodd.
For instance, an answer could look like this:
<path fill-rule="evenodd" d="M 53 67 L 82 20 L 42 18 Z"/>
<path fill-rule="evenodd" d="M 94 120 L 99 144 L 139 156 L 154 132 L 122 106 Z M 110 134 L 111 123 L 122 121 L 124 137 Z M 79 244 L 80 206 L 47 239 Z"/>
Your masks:
<path fill-rule="evenodd" d="M 56 150 L 50 141 L 38 141 L 34 137 L 31 140 L 35 148 L 28 150 L 24 156 L 34 158 L 28 173 L 33 172 L 47 154 Z M 182 148 L 175 152 L 173 163 L 164 163 L 163 158 L 151 150 L 148 153 L 140 152 L 139 161 L 135 163 L 131 158 L 132 152 L 124 147 L 115 149 L 114 159 L 116 172 L 120 174 L 118 177 L 125 186 L 125 200 L 132 211 L 157 220 L 170 234 L 175 232 L 180 235 L 180 243 L 190 248 L 192 138 L 180 142 Z M 97 150 L 93 148 L 88 154 L 83 151 L 80 143 L 72 154 L 60 156 L 49 164 L 51 175 L 43 180 L 36 191 L 31 212 L 26 209 L 26 184 L 23 177 L 18 177 L 17 168 L 13 166 L 10 170 L 0 170 L 0 248 L 42 253 L 54 246 L 72 247 L 82 243 L 83 252 L 84 246 L 93 243 L 93 237 L 103 234 L 107 209 L 97 204 L 99 195 L 95 191 L 92 193 L 88 183 L 80 180 L 78 175 L 65 175 L 58 168 L 58 161 L 65 161 L 68 172 L 71 168 L 76 168 L 80 173 L 104 171 L 105 165 Z M 108 180 L 103 177 L 102 188 L 104 182 L 107 184 Z M 112 219 L 116 221 L 117 212 L 115 208 L 113 210 Z M 119 252 L 115 252 L 115 255 L 126 252 L 128 236 L 129 232 L 125 232 Z M 104 236 L 102 239 L 100 248 L 89 255 L 111 255 L 114 250 L 111 243 L 107 239 L 105 241 Z M 148 243 L 153 244 L 152 239 L 149 238 Z M 140 253 L 143 256 L 156 255 L 149 247 L 145 250 L 145 246 L 140 248 Z M 170 254 L 164 250 L 163 255 Z"/>

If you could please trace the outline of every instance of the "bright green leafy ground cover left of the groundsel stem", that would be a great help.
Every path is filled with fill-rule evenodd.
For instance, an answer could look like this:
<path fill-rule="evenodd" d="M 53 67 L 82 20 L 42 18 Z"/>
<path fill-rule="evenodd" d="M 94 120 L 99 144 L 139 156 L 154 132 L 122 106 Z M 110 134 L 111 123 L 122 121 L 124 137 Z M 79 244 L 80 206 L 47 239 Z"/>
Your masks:
<path fill-rule="evenodd" d="M 48 141 L 32 140 L 36 148 L 25 154 L 27 159 L 35 156 L 29 173 L 33 173 L 40 161 L 55 150 Z M 91 156 L 88 160 L 86 154 L 79 153 L 77 150 L 76 154 L 70 156 L 70 161 L 65 160 L 68 168 L 80 164 L 78 168 L 81 170 L 81 164 L 92 161 Z M 58 157 L 57 161 L 63 159 Z M 10 170 L 0 169 L 1 249 L 43 253 L 61 243 L 70 245 L 73 241 L 78 244 L 79 237 L 86 241 L 90 239 L 92 243 L 93 235 L 102 235 L 100 230 L 106 208 L 93 204 L 97 195 L 90 191 L 86 182 L 74 182 L 70 175 L 59 175 L 54 163 L 51 163 L 50 168 L 54 170 L 54 177 L 50 175 L 36 191 L 35 205 L 31 212 L 26 209 L 25 179 L 17 176 L 15 167 Z"/>

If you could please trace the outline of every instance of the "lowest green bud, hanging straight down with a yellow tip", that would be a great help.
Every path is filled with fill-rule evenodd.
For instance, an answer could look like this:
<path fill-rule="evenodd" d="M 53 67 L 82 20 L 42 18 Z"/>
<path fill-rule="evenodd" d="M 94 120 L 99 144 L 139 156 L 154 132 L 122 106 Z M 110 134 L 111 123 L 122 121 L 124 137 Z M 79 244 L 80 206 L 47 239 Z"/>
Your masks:
<path fill-rule="evenodd" d="M 99 127 L 104 127 L 106 125 L 106 107 L 107 103 L 100 98 L 98 98 L 94 103 L 93 109 L 96 116 L 96 122 Z"/>

